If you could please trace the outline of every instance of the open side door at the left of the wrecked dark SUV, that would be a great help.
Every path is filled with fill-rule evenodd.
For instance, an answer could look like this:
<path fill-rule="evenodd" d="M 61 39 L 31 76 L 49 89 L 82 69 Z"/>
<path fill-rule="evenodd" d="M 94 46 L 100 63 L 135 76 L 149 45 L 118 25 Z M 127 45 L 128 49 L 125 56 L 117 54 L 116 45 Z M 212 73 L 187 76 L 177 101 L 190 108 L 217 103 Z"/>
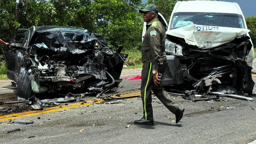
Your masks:
<path fill-rule="evenodd" d="M 19 50 L 26 50 L 27 37 L 28 37 L 28 30 L 19 29 L 14 34 L 14 37 L 12 38 L 10 46 L 5 46 L 3 48 L 8 79 L 17 81 L 15 79 L 15 67 L 17 65 L 17 60 L 15 60 L 16 52 Z"/>

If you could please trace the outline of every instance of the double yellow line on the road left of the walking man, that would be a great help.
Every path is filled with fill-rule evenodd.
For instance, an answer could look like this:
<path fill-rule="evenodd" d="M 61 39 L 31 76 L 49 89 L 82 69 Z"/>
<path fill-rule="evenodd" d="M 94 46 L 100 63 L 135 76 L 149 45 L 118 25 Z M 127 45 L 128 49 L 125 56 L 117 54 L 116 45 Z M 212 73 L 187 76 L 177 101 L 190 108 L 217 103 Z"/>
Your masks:
<path fill-rule="evenodd" d="M 134 97 L 134 96 L 140 96 L 140 92 L 138 92 L 138 93 L 130 93 L 130 94 L 123 94 L 123 95 L 120 95 L 119 97 Z M 113 96 L 113 99 L 114 98 L 119 98 L 119 97 Z M 95 99 L 95 100 L 88 100 L 88 101 L 86 101 L 85 104 L 82 104 L 84 102 L 79 102 L 79 103 L 73 103 L 73 104 L 68 104 L 68 105 L 60 105 L 60 106 L 62 106 L 61 108 L 60 108 L 60 106 L 54 106 L 54 107 L 46 108 L 44 110 L 27 111 L 27 112 L 9 114 L 9 115 L 5 115 L 5 116 L 1 116 L 0 117 L 0 121 L 8 120 L 8 119 L 20 118 L 20 117 L 33 116 L 33 115 L 37 115 L 37 114 L 54 112 L 54 111 L 60 111 L 60 110 L 65 110 L 65 109 L 71 109 L 71 108 L 75 108 L 75 107 L 79 107 L 79 106 L 91 105 L 93 103 L 102 103 L 102 102 L 104 102 L 104 99 L 106 99 L 106 98 Z"/>

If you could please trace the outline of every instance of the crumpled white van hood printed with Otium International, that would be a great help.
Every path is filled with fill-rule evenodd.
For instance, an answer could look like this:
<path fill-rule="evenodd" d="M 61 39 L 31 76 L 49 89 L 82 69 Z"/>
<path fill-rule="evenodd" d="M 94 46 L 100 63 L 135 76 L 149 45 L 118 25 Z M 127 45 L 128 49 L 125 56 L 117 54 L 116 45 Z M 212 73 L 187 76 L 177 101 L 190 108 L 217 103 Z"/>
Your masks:
<path fill-rule="evenodd" d="M 166 34 L 184 38 L 188 45 L 207 49 L 226 44 L 248 32 L 243 28 L 190 25 L 169 30 Z"/>

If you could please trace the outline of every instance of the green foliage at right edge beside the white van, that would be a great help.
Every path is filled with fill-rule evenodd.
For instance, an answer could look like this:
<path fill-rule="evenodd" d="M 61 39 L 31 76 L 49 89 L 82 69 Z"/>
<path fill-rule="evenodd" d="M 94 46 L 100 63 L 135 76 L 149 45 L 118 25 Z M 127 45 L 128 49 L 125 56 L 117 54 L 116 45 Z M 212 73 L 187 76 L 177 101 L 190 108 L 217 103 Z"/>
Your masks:
<path fill-rule="evenodd" d="M 254 46 L 256 46 L 256 17 L 245 17 L 247 28 L 251 31 L 251 40 Z"/>

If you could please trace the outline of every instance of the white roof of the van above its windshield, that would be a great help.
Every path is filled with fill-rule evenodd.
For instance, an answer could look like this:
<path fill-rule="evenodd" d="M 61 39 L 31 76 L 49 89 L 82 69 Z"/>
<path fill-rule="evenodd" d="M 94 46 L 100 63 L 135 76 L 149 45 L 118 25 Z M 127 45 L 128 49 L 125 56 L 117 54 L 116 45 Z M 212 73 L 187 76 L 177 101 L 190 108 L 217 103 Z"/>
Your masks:
<path fill-rule="evenodd" d="M 174 12 L 210 12 L 210 13 L 233 13 L 241 14 L 239 6 L 235 2 L 191 0 L 178 1 Z"/>

